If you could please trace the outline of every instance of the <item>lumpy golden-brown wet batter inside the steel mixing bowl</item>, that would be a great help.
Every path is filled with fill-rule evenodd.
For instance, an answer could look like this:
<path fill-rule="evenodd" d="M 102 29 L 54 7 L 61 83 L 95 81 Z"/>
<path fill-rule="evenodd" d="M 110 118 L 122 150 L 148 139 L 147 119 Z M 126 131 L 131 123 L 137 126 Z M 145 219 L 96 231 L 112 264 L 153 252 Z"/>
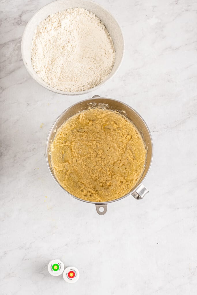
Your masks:
<path fill-rule="evenodd" d="M 145 160 L 146 148 L 136 127 L 106 109 L 72 116 L 51 144 L 58 182 L 87 201 L 111 201 L 129 193 L 141 178 Z"/>

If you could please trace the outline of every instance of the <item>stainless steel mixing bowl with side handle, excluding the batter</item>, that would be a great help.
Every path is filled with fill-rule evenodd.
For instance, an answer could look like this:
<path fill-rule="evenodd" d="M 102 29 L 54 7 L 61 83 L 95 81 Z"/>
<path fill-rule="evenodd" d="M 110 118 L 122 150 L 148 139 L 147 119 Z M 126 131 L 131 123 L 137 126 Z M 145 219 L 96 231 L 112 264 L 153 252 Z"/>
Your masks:
<path fill-rule="evenodd" d="M 96 107 L 102 107 L 102 106 L 105 106 L 106 109 L 118 111 L 120 114 L 123 114 L 128 119 L 130 119 L 131 122 L 133 122 L 133 124 L 137 127 L 137 129 L 141 133 L 141 136 L 145 142 L 145 145 L 147 148 L 147 155 L 146 155 L 146 165 L 144 168 L 144 172 L 141 176 L 141 179 L 136 184 L 136 186 L 132 189 L 132 191 L 130 191 L 128 194 L 122 196 L 121 198 L 115 199 L 113 201 L 95 203 L 95 202 L 91 202 L 91 201 L 85 201 L 85 200 L 77 198 L 76 196 L 73 196 L 58 183 L 58 181 L 53 173 L 53 168 L 51 166 L 50 145 L 56 135 L 56 131 L 68 118 L 70 118 L 71 116 L 73 116 L 74 114 L 76 114 L 78 112 L 88 109 L 89 107 L 96 108 Z M 87 203 L 95 204 L 97 213 L 100 215 L 104 215 L 107 212 L 107 204 L 108 203 L 119 201 L 130 194 L 135 199 L 139 200 L 139 199 L 142 199 L 144 197 L 144 195 L 148 192 L 148 190 L 145 188 L 145 186 L 142 184 L 142 182 L 144 181 L 146 175 L 149 172 L 149 169 L 150 169 L 151 163 L 152 163 L 152 157 L 153 157 L 153 142 L 152 142 L 150 130 L 149 130 L 148 126 L 146 125 L 144 119 L 142 119 L 142 117 L 134 109 L 132 109 L 130 106 L 128 106 L 127 104 L 124 104 L 121 101 L 118 101 L 115 99 L 103 98 L 103 97 L 96 95 L 96 96 L 93 96 L 91 99 L 86 99 L 86 100 L 80 101 L 80 102 L 70 106 L 61 115 L 59 115 L 59 117 L 53 123 L 53 126 L 51 127 L 51 129 L 49 131 L 47 141 L 46 141 L 45 156 L 46 156 L 49 171 L 51 172 L 51 175 L 53 176 L 55 181 L 58 183 L 58 185 L 67 194 L 74 197 L 75 199 L 78 199 L 80 201 L 84 201 Z"/>

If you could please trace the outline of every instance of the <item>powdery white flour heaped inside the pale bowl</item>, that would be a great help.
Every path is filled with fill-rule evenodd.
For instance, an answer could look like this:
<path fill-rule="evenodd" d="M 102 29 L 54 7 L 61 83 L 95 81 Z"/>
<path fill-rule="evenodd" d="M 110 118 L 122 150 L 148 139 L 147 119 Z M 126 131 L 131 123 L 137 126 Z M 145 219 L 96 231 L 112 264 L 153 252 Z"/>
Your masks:
<path fill-rule="evenodd" d="M 83 91 L 100 84 L 115 61 L 113 40 L 92 12 L 71 8 L 51 14 L 36 28 L 32 66 L 38 76 L 62 91 Z"/>

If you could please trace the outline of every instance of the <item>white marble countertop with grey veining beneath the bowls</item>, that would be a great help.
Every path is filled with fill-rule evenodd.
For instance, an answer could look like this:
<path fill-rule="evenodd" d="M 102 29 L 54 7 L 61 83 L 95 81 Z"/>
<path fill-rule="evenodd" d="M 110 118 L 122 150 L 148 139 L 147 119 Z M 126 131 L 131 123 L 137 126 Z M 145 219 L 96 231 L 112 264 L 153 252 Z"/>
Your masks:
<path fill-rule="evenodd" d="M 25 25 L 49 2 L 1 0 L 0 294 L 196 295 L 197 2 L 97 0 L 126 52 L 111 81 L 74 97 L 41 87 L 22 62 Z M 149 194 L 104 216 L 61 190 L 44 157 L 56 117 L 95 94 L 131 105 L 154 141 Z M 53 258 L 76 266 L 79 281 L 50 276 Z"/>

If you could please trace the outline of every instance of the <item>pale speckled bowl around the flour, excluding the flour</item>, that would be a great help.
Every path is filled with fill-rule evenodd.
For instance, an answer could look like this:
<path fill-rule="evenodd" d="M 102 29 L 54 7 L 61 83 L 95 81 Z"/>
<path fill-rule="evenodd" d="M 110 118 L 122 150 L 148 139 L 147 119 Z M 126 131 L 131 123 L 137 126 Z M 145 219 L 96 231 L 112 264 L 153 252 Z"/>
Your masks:
<path fill-rule="evenodd" d="M 64 11 L 68 8 L 74 8 L 74 7 L 84 8 L 89 10 L 90 12 L 93 12 L 103 22 L 103 24 L 105 25 L 105 27 L 107 28 L 108 32 L 110 33 L 113 39 L 114 47 L 116 51 L 116 58 L 115 58 L 115 63 L 111 73 L 109 74 L 107 78 L 105 78 L 105 80 L 102 83 L 100 83 L 99 85 L 91 89 L 87 89 L 84 91 L 67 92 L 67 91 L 61 91 L 51 87 L 45 81 L 43 81 L 40 77 L 38 77 L 31 63 L 31 46 L 32 46 L 32 38 L 34 35 L 34 31 L 37 25 L 43 19 L 47 18 L 50 14 L 54 14 L 56 12 Z M 113 15 L 111 15 L 110 12 L 108 12 L 108 10 L 106 10 L 104 7 L 97 4 L 96 2 L 89 1 L 89 0 L 57 0 L 57 1 L 51 2 L 50 4 L 45 5 L 40 10 L 38 10 L 38 12 L 36 12 L 34 16 L 30 19 L 30 21 L 27 23 L 27 26 L 25 27 L 25 31 L 22 36 L 21 52 L 22 52 L 22 59 L 27 71 L 30 73 L 32 78 L 34 78 L 35 81 L 37 81 L 40 85 L 42 85 L 46 89 L 49 89 L 51 91 L 54 91 L 60 94 L 66 94 L 66 95 L 84 94 L 99 88 L 106 81 L 108 81 L 108 79 L 110 79 L 118 70 L 121 64 L 121 61 L 123 59 L 124 40 L 123 40 L 121 28 L 119 27 Z"/>

